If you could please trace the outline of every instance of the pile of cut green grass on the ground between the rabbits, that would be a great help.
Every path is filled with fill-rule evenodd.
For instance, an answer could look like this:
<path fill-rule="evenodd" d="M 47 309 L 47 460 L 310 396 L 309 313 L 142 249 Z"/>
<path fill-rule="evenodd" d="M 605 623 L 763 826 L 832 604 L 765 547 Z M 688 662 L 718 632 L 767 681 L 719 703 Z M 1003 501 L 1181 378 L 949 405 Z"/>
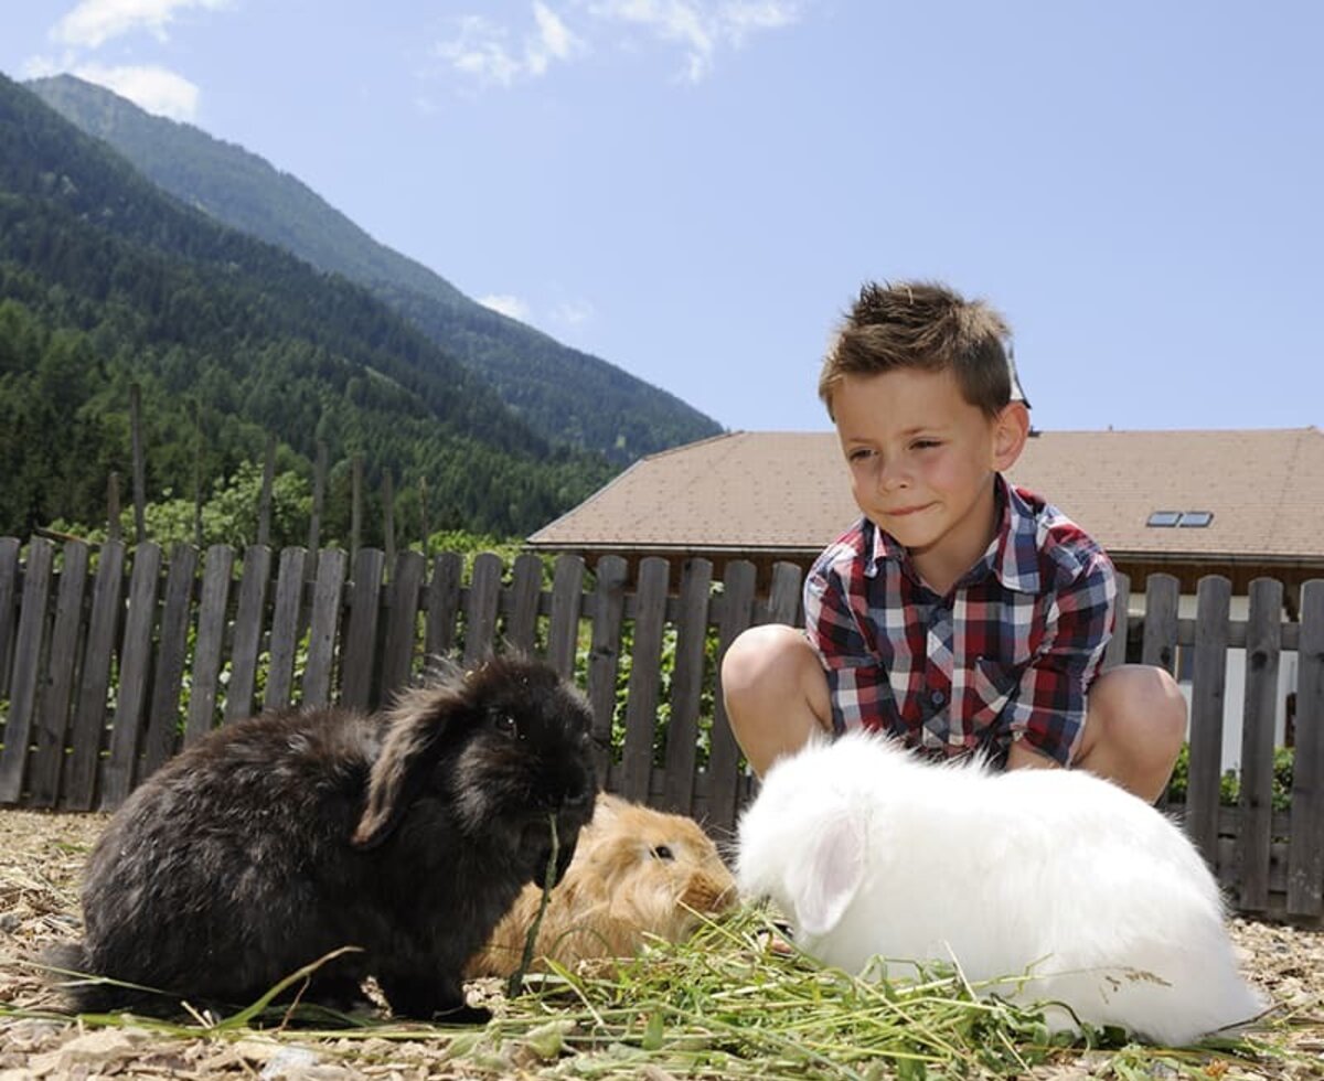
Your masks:
<path fill-rule="evenodd" d="M 935 966 L 906 982 L 862 980 L 773 949 L 776 938 L 765 914 L 747 909 L 707 924 L 681 946 L 650 945 L 616 970 L 528 976 L 526 990 L 482 1028 L 338 1019 L 303 1007 L 291 1017 L 289 1008 L 271 1006 L 310 970 L 230 1016 L 150 1024 L 163 1036 L 196 1039 L 281 1029 L 297 1020 L 290 1036 L 301 1044 L 334 1039 L 338 1056 L 354 1055 L 355 1037 L 425 1041 L 479 1076 L 612 1081 L 639 1077 L 645 1068 L 657 1077 L 760 1081 L 1004 1078 L 1049 1062 L 1090 1062 L 1090 1076 L 1132 1081 L 1280 1076 L 1288 1064 L 1305 1062 L 1288 1049 L 1282 1028 L 1275 1039 L 1274 1027 L 1184 1049 L 1128 1043 L 1113 1029 L 1087 1029 L 1072 1041 L 1050 1036 L 1039 1010 L 981 995 L 997 987 L 972 987 L 949 967 Z M 126 1023 L 83 1019 L 87 1025 Z M 1107 1065 L 1098 1072 L 1100 1056 Z"/>

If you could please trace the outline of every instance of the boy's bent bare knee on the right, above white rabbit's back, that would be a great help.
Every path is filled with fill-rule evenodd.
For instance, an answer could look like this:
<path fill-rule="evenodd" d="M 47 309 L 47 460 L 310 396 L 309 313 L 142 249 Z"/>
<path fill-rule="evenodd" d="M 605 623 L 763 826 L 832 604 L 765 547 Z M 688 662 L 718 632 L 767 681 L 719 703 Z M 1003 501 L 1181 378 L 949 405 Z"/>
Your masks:
<path fill-rule="evenodd" d="M 1168 787 L 1186 738 L 1186 700 L 1152 664 L 1121 664 L 1090 687 L 1074 767 L 1115 781 L 1153 803 Z"/>

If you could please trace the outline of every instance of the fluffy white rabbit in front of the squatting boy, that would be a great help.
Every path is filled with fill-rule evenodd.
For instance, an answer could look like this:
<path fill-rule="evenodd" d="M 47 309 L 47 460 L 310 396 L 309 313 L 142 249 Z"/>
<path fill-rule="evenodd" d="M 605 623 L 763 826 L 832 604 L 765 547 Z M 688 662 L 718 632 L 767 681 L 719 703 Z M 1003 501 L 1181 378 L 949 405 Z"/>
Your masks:
<path fill-rule="evenodd" d="M 736 880 L 828 965 L 955 962 L 972 984 L 1001 980 L 986 992 L 1068 1007 L 1050 1007 L 1055 1031 L 1182 1045 L 1264 1008 L 1185 834 L 1083 771 L 936 763 L 867 733 L 816 741 L 741 815 Z"/>

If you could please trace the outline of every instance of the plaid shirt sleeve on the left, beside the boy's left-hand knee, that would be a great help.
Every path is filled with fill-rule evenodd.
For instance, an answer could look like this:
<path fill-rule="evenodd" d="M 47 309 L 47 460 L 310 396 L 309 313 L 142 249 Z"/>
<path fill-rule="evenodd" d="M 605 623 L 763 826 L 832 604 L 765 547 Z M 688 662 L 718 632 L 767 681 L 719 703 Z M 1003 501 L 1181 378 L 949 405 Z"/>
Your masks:
<path fill-rule="evenodd" d="M 833 730 L 884 726 L 891 685 L 835 570 L 805 580 L 805 632 L 828 676 Z"/>

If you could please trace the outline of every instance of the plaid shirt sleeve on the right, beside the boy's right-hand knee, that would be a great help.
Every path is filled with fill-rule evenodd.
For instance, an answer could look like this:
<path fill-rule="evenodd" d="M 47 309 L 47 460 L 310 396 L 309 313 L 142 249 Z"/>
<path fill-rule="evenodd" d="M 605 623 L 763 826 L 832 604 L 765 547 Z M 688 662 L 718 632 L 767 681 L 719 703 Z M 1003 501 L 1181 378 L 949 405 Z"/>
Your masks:
<path fill-rule="evenodd" d="M 1068 766 L 1080 742 L 1086 691 L 1112 636 L 1117 580 L 1103 553 L 1049 601 L 1045 634 L 1008 704 L 1013 740 Z"/>

